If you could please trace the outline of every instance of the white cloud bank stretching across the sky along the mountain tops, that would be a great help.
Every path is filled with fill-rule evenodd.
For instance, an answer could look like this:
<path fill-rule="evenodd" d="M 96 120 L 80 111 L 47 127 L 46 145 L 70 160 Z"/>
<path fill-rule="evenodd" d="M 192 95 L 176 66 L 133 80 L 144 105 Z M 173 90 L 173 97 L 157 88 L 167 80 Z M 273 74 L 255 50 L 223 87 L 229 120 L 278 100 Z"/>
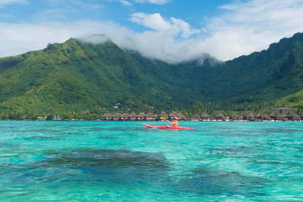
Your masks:
<path fill-rule="evenodd" d="M 0 57 L 42 49 L 48 42 L 64 42 L 70 37 L 105 34 L 121 48 L 170 63 L 205 54 L 225 61 L 261 51 L 280 38 L 303 31 L 302 0 L 253 0 L 220 8 L 225 14 L 206 19 L 207 25 L 201 28 L 193 28 L 175 17 L 165 18 L 158 12 L 134 12 L 128 16 L 130 22 L 145 27 L 142 32 L 102 20 L 0 23 Z"/>

